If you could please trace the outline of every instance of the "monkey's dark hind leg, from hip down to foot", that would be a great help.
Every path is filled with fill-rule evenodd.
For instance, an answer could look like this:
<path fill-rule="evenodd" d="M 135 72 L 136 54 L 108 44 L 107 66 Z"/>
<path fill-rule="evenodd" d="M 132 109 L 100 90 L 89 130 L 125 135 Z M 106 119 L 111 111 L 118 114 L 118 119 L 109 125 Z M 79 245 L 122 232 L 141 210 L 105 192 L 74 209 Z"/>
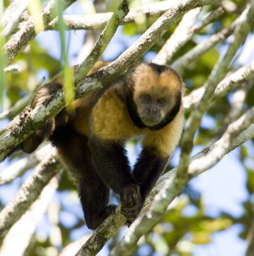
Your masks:
<path fill-rule="evenodd" d="M 101 181 L 96 172 L 88 148 L 88 138 L 67 124 L 56 128 L 49 139 L 58 148 L 77 182 L 88 228 L 96 229 L 115 210 L 115 205 L 108 205 L 109 187 Z"/>

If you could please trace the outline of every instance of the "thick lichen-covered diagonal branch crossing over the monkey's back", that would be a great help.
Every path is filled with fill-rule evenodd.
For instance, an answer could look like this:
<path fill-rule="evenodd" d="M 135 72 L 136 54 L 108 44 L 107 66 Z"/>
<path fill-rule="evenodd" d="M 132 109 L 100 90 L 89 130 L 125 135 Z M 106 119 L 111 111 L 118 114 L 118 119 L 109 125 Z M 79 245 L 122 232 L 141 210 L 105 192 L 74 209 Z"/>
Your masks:
<path fill-rule="evenodd" d="M 76 97 L 81 97 L 92 90 L 99 89 L 102 84 L 106 84 L 119 77 L 132 63 L 145 54 L 145 52 L 147 52 L 185 12 L 188 12 L 190 9 L 203 2 L 204 1 L 201 0 L 174 1 L 173 7 L 163 14 L 137 42 L 122 53 L 117 60 L 92 75 L 83 78 L 81 85 L 76 91 Z M 207 1 L 205 3 L 207 3 Z M 64 106 L 63 91 L 59 90 L 54 95 L 51 102 L 46 106 L 40 105 L 32 110 L 26 119 L 14 119 L 2 133 L 0 132 L 0 160 L 15 146 L 34 133 L 36 129 L 43 126 L 50 118 L 61 111 Z"/>

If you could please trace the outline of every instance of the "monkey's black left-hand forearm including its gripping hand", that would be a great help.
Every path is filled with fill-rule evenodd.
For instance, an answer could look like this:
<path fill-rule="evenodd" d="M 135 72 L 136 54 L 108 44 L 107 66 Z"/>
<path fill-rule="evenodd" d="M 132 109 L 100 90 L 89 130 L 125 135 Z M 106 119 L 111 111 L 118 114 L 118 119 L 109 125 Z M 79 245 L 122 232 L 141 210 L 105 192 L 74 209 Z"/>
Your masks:
<path fill-rule="evenodd" d="M 140 189 L 131 175 L 124 147 L 91 137 L 88 142 L 96 170 L 103 183 L 120 195 L 121 212 L 129 220 L 137 217 L 141 207 Z"/>

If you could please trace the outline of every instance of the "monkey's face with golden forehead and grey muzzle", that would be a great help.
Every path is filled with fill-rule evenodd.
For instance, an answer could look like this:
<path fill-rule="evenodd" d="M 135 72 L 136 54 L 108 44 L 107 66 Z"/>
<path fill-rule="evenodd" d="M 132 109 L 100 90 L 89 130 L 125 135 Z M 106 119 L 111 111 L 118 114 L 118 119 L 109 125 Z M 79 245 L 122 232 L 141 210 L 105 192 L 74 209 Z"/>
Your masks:
<path fill-rule="evenodd" d="M 138 115 L 146 126 L 158 125 L 179 100 L 179 78 L 171 70 L 158 73 L 150 65 L 140 70 L 135 78 L 133 100 Z"/>

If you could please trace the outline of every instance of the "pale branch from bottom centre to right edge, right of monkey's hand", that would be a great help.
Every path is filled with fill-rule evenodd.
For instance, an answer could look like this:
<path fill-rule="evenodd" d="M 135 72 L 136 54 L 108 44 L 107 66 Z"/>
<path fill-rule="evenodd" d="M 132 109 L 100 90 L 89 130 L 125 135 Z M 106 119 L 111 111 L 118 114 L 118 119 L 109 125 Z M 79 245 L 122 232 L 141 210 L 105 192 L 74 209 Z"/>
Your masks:
<path fill-rule="evenodd" d="M 163 175 L 152 193 L 148 202 L 155 196 L 148 212 L 138 217 L 123 240 L 111 251 L 111 256 L 129 255 L 136 246 L 139 238 L 149 232 L 163 217 L 168 204 L 170 204 L 182 189 L 187 185 L 190 179 L 201 174 L 207 169 L 213 167 L 228 152 L 232 151 L 248 139 L 254 137 L 254 125 L 250 125 L 247 129 L 247 123 L 254 120 L 254 107 L 243 115 L 240 119 L 233 122 L 225 131 L 221 139 L 214 144 L 206 147 L 203 151 L 192 158 L 188 167 L 188 175 L 185 177 L 177 177 L 177 168 Z M 233 132 L 232 132 L 233 131 Z M 238 132 L 238 136 L 236 135 Z M 112 228 L 112 227 L 111 227 Z"/>

